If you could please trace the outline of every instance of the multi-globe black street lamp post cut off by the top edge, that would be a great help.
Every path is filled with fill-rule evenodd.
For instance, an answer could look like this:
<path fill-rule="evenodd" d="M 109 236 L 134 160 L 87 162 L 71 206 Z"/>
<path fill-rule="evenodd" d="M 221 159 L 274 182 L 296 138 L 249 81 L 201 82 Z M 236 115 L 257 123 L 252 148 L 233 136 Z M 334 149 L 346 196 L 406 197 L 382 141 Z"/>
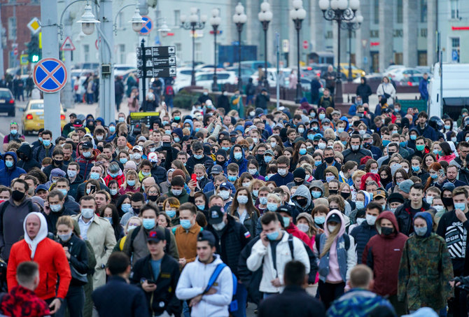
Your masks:
<path fill-rule="evenodd" d="M 340 72 L 340 25 L 342 21 L 351 21 L 356 10 L 360 7 L 360 0 L 319 0 L 319 8 L 323 17 L 328 21 L 337 22 L 337 78 L 335 80 L 335 104 L 342 104 L 342 73 Z"/>

